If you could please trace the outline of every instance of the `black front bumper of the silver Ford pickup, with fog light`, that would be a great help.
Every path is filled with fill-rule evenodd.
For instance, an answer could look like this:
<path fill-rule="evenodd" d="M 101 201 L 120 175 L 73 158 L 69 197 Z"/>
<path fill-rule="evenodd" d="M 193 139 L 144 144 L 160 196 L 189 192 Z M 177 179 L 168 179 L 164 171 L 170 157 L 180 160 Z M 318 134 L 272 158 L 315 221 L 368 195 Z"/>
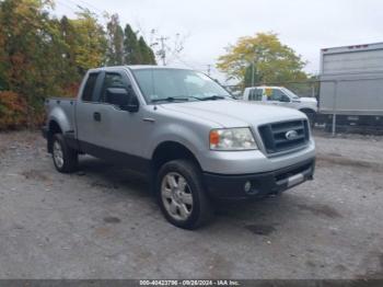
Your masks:
<path fill-rule="evenodd" d="M 313 180 L 315 158 L 271 172 L 227 175 L 204 173 L 209 195 L 217 199 L 259 198 L 278 194 L 307 180 Z M 245 191 L 245 185 L 251 188 Z"/>

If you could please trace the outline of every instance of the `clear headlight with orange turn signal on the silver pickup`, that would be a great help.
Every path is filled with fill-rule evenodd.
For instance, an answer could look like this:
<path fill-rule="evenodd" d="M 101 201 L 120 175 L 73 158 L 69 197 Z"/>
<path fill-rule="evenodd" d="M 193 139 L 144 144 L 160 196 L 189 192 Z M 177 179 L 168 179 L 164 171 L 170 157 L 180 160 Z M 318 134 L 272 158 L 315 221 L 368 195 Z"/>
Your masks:
<path fill-rule="evenodd" d="M 258 148 L 248 127 L 212 129 L 209 139 L 210 149 L 212 150 L 251 150 Z"/>

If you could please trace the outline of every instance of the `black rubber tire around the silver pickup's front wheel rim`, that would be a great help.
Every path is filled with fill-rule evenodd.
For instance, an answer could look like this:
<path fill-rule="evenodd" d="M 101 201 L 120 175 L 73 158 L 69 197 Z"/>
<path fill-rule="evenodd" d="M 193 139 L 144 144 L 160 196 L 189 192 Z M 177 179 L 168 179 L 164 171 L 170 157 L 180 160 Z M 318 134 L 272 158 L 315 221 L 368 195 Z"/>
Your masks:
<path fill-rule="evenodd" d="M 186 220 L 174 218 L 166 209 L 162 197 L 162 184 L 164 177 L 173 173 L 179 174 L 186 180 L 188 192 L 193 197 L 193 208 Z M 211 219 L 213 210 L 204 188 L 201 173 L 196 164 L 190 161 L 174 160 L 162 165 L 156 175 L 155 193 L 164 217 L 169 222 L 176 227 L 192 230 L 201 227 L 202 225 L 207 223 L 209 219 Z M 179 209 L 177 209 L 177 213 L 179 213 Z"/>

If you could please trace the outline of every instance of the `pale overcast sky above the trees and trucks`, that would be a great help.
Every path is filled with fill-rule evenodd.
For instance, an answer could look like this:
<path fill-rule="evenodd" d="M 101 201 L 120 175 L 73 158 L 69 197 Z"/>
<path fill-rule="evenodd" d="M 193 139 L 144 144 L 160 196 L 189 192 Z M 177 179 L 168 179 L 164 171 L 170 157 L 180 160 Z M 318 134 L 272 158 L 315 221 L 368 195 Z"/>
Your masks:
<path fill-rule="evenodd" d="M 258 32 L 277 33 L 307 61 L 309 73 L 318 73 L 321 48 L 383 42 L 382 0 L 56 0 L 56 13 L 73 15 L 77 4 L 118 13 L 148 43 L 165 36 L 173 47 L 178 38 L 184 49 L 169 65 L 202 71 L 211 65 L 220 80 L 214 66 L 224 48 Z"/>

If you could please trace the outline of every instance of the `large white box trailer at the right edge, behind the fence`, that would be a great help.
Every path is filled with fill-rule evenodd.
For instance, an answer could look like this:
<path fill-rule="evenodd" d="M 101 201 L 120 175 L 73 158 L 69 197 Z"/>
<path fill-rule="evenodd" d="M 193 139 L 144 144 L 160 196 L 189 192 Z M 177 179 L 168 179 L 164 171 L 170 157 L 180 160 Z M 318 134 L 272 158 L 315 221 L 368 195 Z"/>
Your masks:
<path fill-rule="evenodd" d="M 383 129 L 383 43 L 321 50 L 320 113 L 326 126 Z"/>

